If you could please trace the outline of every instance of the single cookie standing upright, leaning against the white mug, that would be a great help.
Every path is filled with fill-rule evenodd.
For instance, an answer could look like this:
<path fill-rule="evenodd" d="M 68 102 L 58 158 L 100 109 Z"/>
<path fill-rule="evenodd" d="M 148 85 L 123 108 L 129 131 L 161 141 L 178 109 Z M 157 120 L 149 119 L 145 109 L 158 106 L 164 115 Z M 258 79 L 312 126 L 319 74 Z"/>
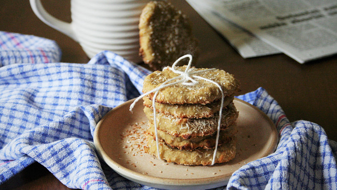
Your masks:
<path fill-rule="evenodd" d="M 149 2 L 139 21 L 139 54 L 153 70 L 172 66 L 186 53 L 197 54 L 197 40 L 181 11 L 166 1 Z"/>

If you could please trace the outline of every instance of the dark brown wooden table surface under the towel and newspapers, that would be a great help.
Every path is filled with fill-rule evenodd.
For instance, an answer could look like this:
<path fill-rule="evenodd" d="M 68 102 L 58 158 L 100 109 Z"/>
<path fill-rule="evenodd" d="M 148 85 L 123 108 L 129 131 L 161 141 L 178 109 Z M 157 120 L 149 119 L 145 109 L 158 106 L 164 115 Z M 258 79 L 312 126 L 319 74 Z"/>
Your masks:
<path fill-rule="evenodd" d="M 70 22 L 69 0 L 43 0 L 46 10 Z M 193 24 L 201 53 L 197 67 L 220 68 L 241 82 L 240 94 L 265 88 L 285 111 L 290 121 L 309 120 L 321 125 L 329 139 L 337 141 L 337 56 L 301 65 L 285 54 L 242 58 L 185 1 L 172 1 Z M 28 0 L 3 0 L 0 30 L 32 34 L 55 40 L 62 62 L 89 61 L 79 44 L 41 22 Z M 34 163 L 0 185 L 0 189 L 69 189 L 46 168 Z"/>

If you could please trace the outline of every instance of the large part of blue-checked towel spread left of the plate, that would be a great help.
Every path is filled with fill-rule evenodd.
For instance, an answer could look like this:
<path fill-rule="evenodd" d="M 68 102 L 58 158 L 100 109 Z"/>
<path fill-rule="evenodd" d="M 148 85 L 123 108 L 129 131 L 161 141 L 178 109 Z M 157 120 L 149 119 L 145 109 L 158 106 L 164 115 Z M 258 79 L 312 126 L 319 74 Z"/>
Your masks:
<path fill-rule="evenodd" d="M 1 67 L 0 184 L 37 161 L 70 188 L 111 189 L 93 146 L 95 126 L 139 96 L 149 73 L 108 51 L 88 64 Z"/>

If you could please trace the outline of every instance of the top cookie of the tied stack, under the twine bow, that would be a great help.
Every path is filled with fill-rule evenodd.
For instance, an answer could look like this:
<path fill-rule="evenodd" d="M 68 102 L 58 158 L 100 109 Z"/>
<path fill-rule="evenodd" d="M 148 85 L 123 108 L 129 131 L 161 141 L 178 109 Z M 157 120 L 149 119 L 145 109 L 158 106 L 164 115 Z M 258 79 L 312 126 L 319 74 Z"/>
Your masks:
<path fill-rule="evenodd" d="M 187 66 L 176 67 L 176 70 L 184 72 Z M 206 69 L 196 69 L 194 71 L 204 71 Z M 233 75 L 223 70 L 211 70 L 196 74 L 197 76 L 212 80 L 222 88 L 225 96 L 233 95 L 239 91 L 239 83 Z M 143 92 L 149 92 L 156 87 L 159 87 L 165 81 L 180 76 L 170 69 L 156 71 L 148 75 L 144 79 Z M 219 88 L 202 79 L 195 79 L 198 83 L 193 86 L 183 85 L 181 83 L 161 89 L 155 101 L 158 103 L 169 104 L 207 104 L 215 100 L 221 99 L 221 91 Z M 154 93 L 148 95 L 152 99 Z"/>

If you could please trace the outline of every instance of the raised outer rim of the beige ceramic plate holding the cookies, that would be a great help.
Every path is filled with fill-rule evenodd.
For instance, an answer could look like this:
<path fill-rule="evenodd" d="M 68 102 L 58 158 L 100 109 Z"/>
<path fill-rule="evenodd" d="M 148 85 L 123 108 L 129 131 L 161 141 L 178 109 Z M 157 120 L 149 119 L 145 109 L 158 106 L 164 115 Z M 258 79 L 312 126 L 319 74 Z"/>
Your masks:
<path fill-rule="evenodd" d="M 149 186 L 153 186 L 150 184 L 156 184 L 157 186 L 153 186 L 153 187 L 162 187 L 162 185 L 164 186 L 171 186 L 171 187 L 177 187 L 177 186 L 204 186 L 204 185 L 210 185 L 210 184 L 219 184 L 219 183 L 224 183 L 227 184 L 229 177 L 231 176 L 228 174 L 222 174 L 222 175 L 217 175 L 217 176 L 212 176 L 212 177 L 202 177 L 202 178 L 189 178 L 189 179 L 182 179 L 182 178 L 167 178 L 167 177 L 158 177 L 158 176 L 150 176 L 150 175 L 145 175 L 133 170 L 130 170 L 126 167 L 124 167 L 121 164 L 118 164 L 116 161 L 114 161 L 114 159 L 112 159 L 111 157 L 108 156 L 108 154 L 104 151 L 104 148 L 102 147 L 100 140 L 99 140 L 99 130 L 101 128 L 101 125 L 103 123 L 103 121 L 111 114 L 111 112 L 114 112 L 116 109 L 120 109 L 121 107 L 125 106 L 126 104 L 131 104 L 131 102 L 133 102 L 136 98 L 128 100 L 118 106 L 116 106 L 115 108 L 113 108 L 112 110 L 110 110 L 108 113 L 106 113 L 101 119 L 100 121 L 97 123 L 95 131 L 94 131 L 94 145 L 95 148 L 98 152 L 98 154 L 103 158 L 103 160 L 106 162 L 106 164 L 111 167 L 115 172 L 117 172 L 118 174 L 124 176 L 125 178 L 128 178 L 130 180 L 133 180 L 135 182 L 141 183 L 141 184 L 146 184 Z M 238 98 L 234 98 L 235 101 L 241 102 L 251 108 L 254 108 L 255 110 L 257 110 L 258 112 L 261 113 L 261 115 L 269 122 L 269 124 L 271 126 L 273 126 L 271 128 L 272 132 L 271 132 L 271 136 L 273 136 L 273 141 L 270 144 L 268 151 L 266 151 L 263 157 L 266 157 L 270 154 L 272 154 L 273 152 L 275 152 L 277 145 L 278 145 L 278 141 L 279 141 L 279 135 L 277 133 L 277 129 L 275 124 L 273 123 L 273 121 L 267 116 L 267 114 L 265 112 L 263 112 L 261 109 L 259 109 L 258 107 L 249 104 L 246 101 L 243 101 L 241 99 Z M 141 100 L 142 101 L 142 100 Z M 113 163 L 113 165 L 110 165 L 106 159 L 108 159 L 110 162 Z M 212 167 L 212 166 L 210 166 Z M 120 170 L 123 170 L 124 172 L 120 172 Z M 235 172 L 235 171 L 233 171 Z M 128 175 L 124 174 L 124 173 L 128 173 Z M 146 181 L 144 181 L 143 179 L 146 179 Z M 211 180 L 210 180 L 211 179 Z M 148 180 L 150 180 L 151 182 L 147 182 Z M 188 181 L 188 182 L 186 182 Z M 159 185 L 159 186 L 158 186 Z"/>

